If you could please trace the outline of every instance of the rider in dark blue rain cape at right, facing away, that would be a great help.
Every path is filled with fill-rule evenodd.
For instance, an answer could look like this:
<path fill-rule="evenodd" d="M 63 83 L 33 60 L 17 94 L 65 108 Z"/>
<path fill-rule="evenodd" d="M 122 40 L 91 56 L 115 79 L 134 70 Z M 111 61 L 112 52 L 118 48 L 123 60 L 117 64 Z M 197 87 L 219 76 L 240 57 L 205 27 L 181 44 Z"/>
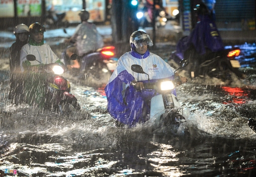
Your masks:
<path fill-rule="evenodd" d="M 184 36 L 177 43 L 177 55 L 180 58 L 189 59 L 194 65 L 200 64 L 208 53 L 224 49 L 215 22 L 210 17 L 204 3 L 196 6 L 198 22 L 189 36 Z"/>

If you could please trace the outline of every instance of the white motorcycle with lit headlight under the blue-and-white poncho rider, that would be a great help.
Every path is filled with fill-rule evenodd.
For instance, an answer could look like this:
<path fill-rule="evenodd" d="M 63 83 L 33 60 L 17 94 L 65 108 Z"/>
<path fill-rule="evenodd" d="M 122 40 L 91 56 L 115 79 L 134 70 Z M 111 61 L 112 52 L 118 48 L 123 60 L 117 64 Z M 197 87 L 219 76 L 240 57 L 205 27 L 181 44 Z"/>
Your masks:
<path fill-rule="evenodd" d="M 178 69 L 181 69 L 185 67 L 188 62 L 184 59 L 181 60 L 179 64 L 180 66 Z M 131 67 L 134 72 L 147 74 L 138 64 L 133 64 Z M 176 69 L 174 72 L 176 72 L 178 69 Z M 186 122 L 186 119 L 183 116 L 183 108 L 176 97 L 175 87 L 180 84 L 181 80 L 179 76 L 174 80 L 163 78 L 157 82 L 144 83 L 143 89 L 146 91 L 155 91 L 155 96 L 153 96 L 150 100 L 150 119 L 160 119 L 158 122 L 163 123 L 163 126 L 167 126 L 174 133 L 176 133 L 178 130 L 182 130 L 185 133 L 188 131 L 187 127 L 182 129 L 184 126 L 181 125 Z"/>

